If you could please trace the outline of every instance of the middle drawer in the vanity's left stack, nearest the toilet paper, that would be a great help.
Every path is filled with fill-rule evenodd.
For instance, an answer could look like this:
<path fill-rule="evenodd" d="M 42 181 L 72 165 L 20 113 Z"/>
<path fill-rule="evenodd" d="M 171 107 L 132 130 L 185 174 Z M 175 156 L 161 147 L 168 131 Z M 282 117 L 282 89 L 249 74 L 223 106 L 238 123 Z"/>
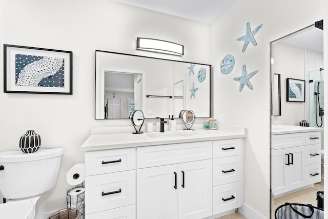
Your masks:
<path fill-rule="evenodd" d="M 86 214 L 135 204 L 135 170 L 86 177 Z"/>

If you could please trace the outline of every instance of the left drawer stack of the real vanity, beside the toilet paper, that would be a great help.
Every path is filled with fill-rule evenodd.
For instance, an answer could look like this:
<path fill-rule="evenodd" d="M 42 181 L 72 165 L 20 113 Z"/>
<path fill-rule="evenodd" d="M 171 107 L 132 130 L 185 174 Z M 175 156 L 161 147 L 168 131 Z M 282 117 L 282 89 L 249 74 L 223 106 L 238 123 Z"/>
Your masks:
<path fill-rule="evenodd" d="M 85 155 L 85 217 L 135 219 L 135 148 Z"/>

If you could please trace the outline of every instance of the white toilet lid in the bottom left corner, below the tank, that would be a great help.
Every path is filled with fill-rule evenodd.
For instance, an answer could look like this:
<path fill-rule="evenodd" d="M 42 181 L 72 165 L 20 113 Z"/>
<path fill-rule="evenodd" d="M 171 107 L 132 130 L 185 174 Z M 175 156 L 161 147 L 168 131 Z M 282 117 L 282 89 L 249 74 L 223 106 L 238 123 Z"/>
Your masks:
<path fill-rule="evenodd" d="M 0 204 L 0 214 L 6 219 L 31 218 L 34 205 L 31 200 L 11 201 Z"/>

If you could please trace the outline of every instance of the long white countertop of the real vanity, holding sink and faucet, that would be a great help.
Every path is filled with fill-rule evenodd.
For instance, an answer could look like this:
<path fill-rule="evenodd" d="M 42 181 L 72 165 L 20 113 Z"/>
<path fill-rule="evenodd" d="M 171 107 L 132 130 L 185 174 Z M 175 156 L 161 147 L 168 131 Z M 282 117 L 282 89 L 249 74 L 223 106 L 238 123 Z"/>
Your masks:
<path fill-rule="evenodd" d="M 226 140 L 245 137 L 245 128 L 220 126 L 218 130 L 151 132 L 142 134 L 92 134 L 81 146 L 81 151 L 107 150 L 163 144 Z"/>

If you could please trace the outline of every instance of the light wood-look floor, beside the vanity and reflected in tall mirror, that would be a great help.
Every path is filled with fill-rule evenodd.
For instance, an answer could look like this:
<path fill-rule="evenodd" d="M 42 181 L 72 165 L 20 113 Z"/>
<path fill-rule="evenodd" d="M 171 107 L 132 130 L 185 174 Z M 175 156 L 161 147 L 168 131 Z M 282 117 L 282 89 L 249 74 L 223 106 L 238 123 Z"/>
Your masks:
<path fill-rule="evenodd" d="M 300 204 L 311 204 L 317 206 L 317 191 L 323 191 L 323 181 L 314 184 L 314 187 L 303 189 L 292 194 L 284 195 L 278 198 L 273 198 L 272 196 L 272 210 L 271 218 L 275 218 L 275 211 L 280 206 L 289 203 L 300 203 Z M 228 214 L 226 216 L 218 217 L 216 219 L 244 219 L 246 217 L 242 216 L 239 212 L 233 214 Z"/>

